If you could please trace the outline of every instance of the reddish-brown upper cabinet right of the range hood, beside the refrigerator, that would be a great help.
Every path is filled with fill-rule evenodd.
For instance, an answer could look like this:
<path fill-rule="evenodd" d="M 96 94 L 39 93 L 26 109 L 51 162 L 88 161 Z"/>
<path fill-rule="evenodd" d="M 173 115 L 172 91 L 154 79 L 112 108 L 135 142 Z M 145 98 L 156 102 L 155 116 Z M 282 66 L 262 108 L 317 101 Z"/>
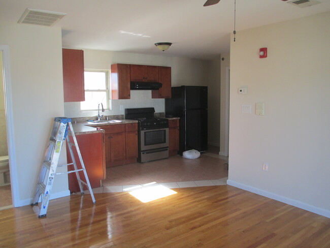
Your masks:
<path fill-rule="evenodd" d="M 158 82 L 162 83 L 162 86 L 157 90 L 152 90 L 152 98 L 171 98 L 171 67 L 158 67 Z"/>

